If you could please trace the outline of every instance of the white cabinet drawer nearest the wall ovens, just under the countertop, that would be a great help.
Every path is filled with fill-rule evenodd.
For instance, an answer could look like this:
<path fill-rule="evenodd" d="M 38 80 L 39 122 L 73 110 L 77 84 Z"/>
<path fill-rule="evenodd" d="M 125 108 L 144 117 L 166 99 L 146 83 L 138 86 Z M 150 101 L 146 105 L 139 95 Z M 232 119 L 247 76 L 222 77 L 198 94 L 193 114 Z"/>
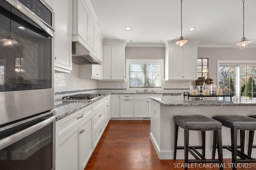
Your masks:
<path fill-rule="evenodd" d="M 79 123 L 92 114 L 92 107 L 88 106 L 75 113 L 56 121 L 56 142 L 68 134 Z"/>

